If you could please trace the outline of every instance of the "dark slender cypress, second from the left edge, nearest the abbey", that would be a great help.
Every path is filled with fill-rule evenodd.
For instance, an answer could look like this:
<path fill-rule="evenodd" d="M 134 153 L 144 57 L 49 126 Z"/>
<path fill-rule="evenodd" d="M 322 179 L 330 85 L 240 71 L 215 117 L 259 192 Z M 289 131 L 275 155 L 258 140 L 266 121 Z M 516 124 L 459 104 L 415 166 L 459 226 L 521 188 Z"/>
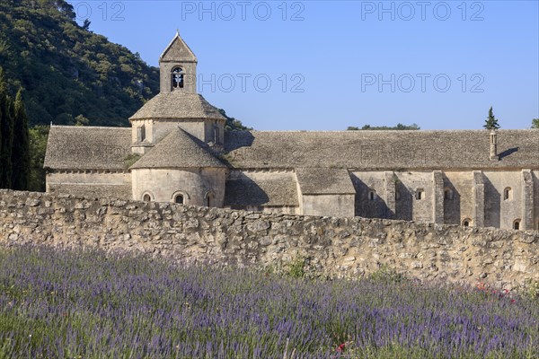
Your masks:
<path fill-rule="evenodd" d="M 12 187 L 13 189 L 28 189 L 30 179 L 30 134 L 28 131 L 28 116 L 22 102 L 22 89 L 15 97 L 13 110 L 13 153 L 12 153 Z"/>

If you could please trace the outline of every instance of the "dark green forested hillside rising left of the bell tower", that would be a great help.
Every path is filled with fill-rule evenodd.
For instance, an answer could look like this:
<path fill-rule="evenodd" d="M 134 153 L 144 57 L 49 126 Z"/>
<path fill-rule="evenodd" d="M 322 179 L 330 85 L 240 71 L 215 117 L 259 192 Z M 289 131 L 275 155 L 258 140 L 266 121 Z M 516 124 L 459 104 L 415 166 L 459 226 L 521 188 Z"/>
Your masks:
<path fill-rule="evenodd" d="M 75 22 L 64 0 L 0 1 L 0 66 L 31 125 L 128 126 L 158 69 Z"/>

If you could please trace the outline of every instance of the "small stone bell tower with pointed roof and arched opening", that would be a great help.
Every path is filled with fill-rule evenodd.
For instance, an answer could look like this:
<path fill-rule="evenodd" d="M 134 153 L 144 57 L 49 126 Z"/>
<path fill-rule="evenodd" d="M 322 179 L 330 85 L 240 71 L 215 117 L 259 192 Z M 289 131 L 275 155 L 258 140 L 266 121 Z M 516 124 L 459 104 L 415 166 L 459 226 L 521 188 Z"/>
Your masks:
<path fill-rule="evenodd" d="M 197 57 L 181 39 L 180 32 L 159 57 L 161 93 L 197 93 Z"/>

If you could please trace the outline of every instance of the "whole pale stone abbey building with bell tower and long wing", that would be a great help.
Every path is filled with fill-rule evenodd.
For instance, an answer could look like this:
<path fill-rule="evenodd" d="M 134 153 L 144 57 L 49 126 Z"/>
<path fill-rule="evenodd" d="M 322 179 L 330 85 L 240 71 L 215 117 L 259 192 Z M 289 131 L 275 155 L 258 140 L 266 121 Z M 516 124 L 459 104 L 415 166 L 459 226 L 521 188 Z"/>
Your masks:
<path fill-rule="evenodd" d="M 49 192 L 539 230 L 539 130 L 225 132 L 179 35 L 160 71 L 130 128 L 50 128 Z"/>

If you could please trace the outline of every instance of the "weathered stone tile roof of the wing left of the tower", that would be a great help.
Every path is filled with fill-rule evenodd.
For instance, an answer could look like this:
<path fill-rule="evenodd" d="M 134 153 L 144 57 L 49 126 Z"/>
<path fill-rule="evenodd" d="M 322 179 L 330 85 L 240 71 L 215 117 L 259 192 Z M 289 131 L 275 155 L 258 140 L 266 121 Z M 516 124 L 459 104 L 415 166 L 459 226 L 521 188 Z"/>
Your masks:
<path fill-rule="evenodd" d="M 51 126 L 45 168 L 123 170 L 131 153 L 131 128 Z"/>

